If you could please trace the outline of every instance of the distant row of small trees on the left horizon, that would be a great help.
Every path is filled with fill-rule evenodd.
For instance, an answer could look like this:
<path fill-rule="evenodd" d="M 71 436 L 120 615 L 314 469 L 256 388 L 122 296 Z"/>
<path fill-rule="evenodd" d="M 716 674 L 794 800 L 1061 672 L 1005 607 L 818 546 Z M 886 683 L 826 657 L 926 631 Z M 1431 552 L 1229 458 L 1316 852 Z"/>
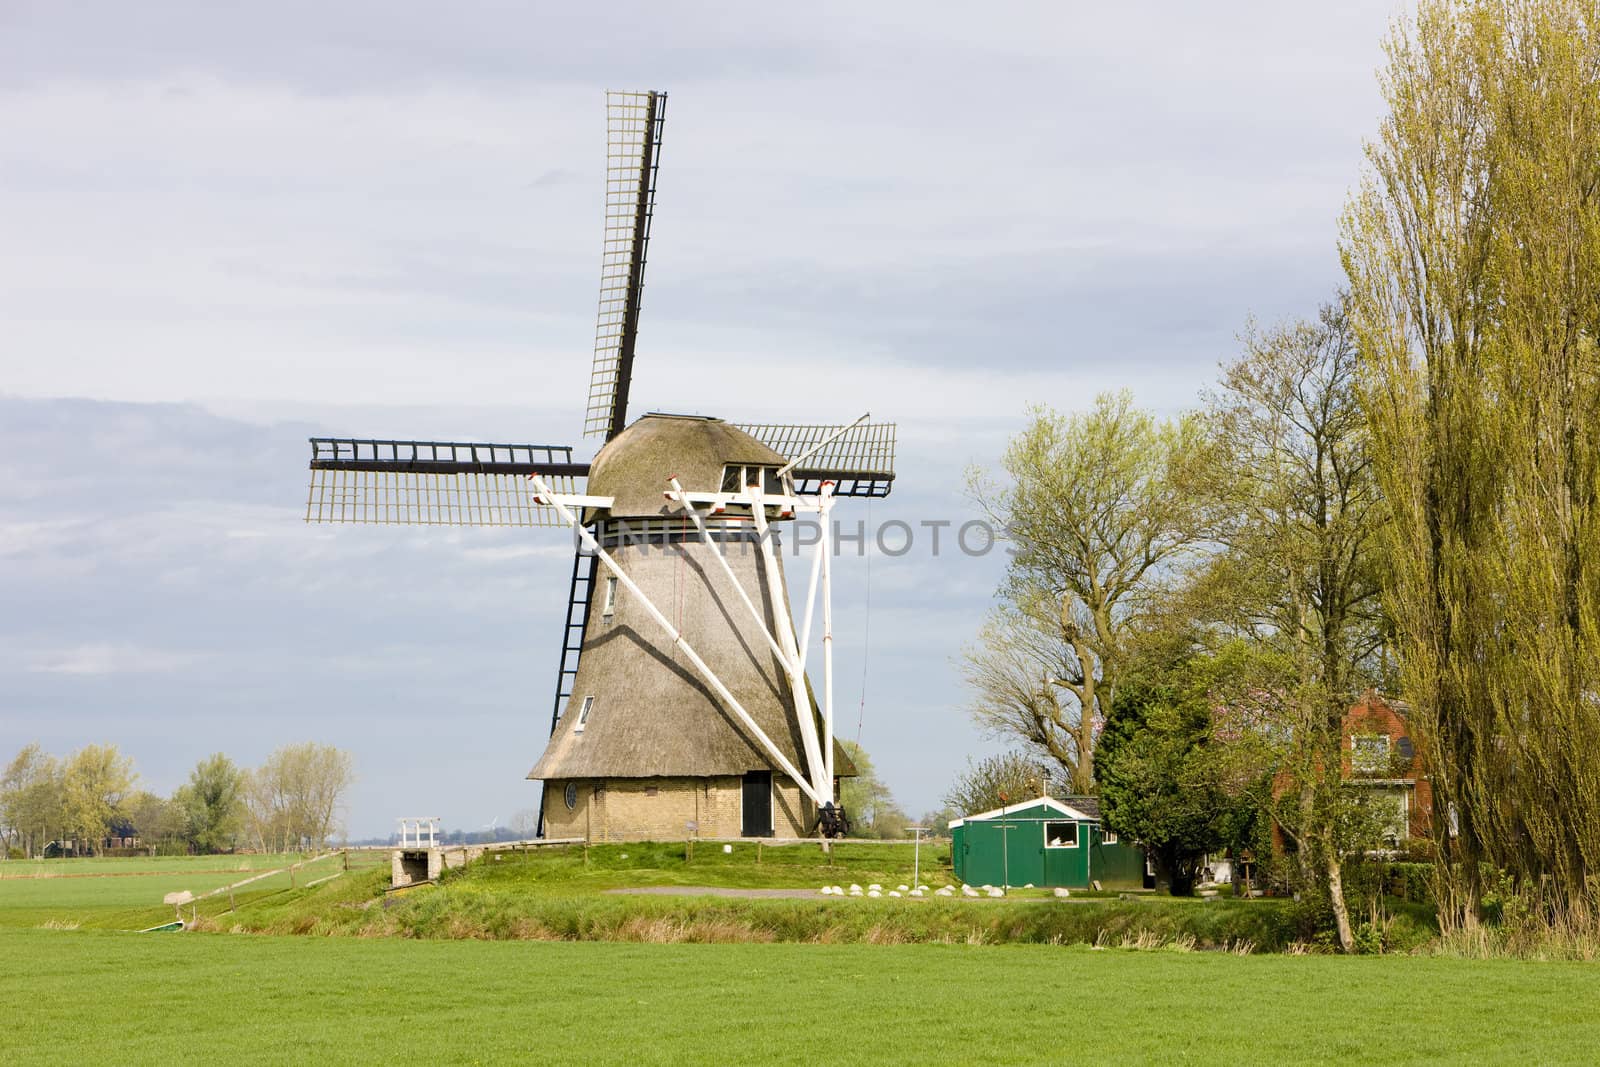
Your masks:
<path fill-rule="evenodd" d="M 27 857 L 322 848 L 341 829 L 354 781 L 349 752 L 302 742 L 258 768 L 218 752 L 160 797 L 138 787 L 133 758 L 117 745 L 58 758 L 30 744 L 0 777 L 0 843 L 3 854 Z"/>

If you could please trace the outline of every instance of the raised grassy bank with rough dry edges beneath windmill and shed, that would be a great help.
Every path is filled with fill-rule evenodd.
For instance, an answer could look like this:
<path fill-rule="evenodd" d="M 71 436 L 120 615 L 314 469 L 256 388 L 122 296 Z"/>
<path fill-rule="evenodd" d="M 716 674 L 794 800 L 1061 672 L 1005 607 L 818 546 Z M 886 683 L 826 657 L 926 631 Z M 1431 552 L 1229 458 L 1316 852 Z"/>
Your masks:
<path fill-rule="evenodd" d="M 210 929 L 358 937 L 622 942 L 816 944 L 1141 944 L 1275 950 L 1296 937 L 1293 909 L 1277 901 L 1117 896 L 1056 899 L 730 899 L 619 896 L 630 886 L 784 888 L 910 885 L 896 846 L 765 848 L 685 854 L 683 845 L 622 845 L 486 857 L 438 885 L 384 893 L 384 872 L 363 872 L 237 912 Z M 586 854 L 587 853 L 587 854 Z M 934 872 L 941 872 L 934 861 Z M 834 877 L 827 877 L 827 875 Z M 949 875 L 923 877 L 930 886 Z"/>

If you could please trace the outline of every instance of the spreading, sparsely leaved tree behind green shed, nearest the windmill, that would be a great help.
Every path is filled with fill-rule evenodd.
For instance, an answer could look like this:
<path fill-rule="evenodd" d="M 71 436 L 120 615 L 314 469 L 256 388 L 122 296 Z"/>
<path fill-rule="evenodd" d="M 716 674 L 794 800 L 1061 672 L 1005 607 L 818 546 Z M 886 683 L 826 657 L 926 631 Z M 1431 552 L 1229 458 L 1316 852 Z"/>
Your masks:
<path fill-rule="evenodd" d="M 973 717 L 1059 761 L 1077 793 L 1094 790 L 1130 630 L 1200 533 L 1186 488 L 1195 429 L 1126 392 L 1072 416 L 1035 408 L 1006 448 L 1006 480 L 968 478 L 1011 547 L 1002 606 L 965 656 Z"/>

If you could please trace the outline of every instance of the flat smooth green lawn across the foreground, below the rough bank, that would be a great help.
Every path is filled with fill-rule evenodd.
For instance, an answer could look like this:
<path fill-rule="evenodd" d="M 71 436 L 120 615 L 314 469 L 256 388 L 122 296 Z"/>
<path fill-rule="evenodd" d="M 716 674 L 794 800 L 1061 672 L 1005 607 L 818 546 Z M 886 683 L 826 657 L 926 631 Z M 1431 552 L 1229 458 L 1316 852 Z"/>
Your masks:
<path fill-rule="evenodd" d="M 0 931 L 0 1062 L 1592 1062 L 1600 968 Z"/>

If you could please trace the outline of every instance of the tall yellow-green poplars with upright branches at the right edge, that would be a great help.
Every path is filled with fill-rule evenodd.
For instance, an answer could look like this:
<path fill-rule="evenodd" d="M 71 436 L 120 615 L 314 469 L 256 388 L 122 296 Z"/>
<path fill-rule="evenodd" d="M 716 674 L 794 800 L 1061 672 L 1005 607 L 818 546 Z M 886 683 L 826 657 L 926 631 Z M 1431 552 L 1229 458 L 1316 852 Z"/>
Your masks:
<path fill-rule="evenodd" d="M 1597 920 L 1600 10 L 1427 0 L 1347 208 L 1405 691 L 1442 921 L 1486 865 Z"/>

